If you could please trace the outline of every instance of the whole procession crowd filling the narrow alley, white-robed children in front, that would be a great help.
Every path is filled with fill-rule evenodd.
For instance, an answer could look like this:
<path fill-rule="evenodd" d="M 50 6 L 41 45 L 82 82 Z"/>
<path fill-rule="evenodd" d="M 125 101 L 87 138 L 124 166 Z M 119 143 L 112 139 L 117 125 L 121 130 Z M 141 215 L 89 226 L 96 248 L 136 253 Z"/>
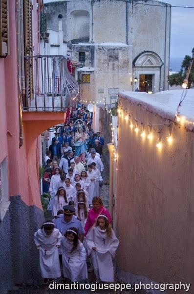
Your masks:
<path fill-rule="evenodd" d="M 104 139 L 91 124 L 92 114 L 81 105 L 45 155 L 43 192 L 50 193 L 53 220 L 35 233 L 45 284 L 61 275 L 64 281 L 85 280 L 93 270 L 97 281 L 114 281 L 112 257 L 119 241 L 99 194 Z"/>

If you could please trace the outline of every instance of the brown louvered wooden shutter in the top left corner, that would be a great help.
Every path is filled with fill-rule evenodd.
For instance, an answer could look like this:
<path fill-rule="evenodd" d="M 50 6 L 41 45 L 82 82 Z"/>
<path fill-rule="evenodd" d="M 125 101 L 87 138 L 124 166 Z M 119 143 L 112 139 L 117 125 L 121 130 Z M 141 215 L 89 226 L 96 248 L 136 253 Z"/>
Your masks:
<path fill-rule="evenodd" d="M 0 57 L 8 54 L 8 0 L 0 0 Z"/>

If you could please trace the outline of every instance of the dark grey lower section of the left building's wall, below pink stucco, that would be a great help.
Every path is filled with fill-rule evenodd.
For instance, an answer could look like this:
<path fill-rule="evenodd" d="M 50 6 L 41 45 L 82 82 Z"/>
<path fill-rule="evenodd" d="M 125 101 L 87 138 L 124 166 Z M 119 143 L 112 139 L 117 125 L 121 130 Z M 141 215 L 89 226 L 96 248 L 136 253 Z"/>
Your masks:
<path fill-rule="evenodd" d="M 21 196 L 10 197 L 9 210 L 0 222 L 0 293 L 41 278 L 34 233 L 44 221 L 43 211 L 27 206 Z"/>

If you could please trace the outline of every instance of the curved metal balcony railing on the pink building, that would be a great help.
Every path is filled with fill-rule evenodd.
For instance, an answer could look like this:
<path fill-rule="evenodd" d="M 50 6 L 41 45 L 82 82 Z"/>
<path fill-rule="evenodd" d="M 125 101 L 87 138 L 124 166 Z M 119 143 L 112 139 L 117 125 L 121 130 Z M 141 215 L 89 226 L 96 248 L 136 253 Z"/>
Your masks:
<path fill-rule="evenodd" d="M 64 55 L 25 57 L 24 112 L 65 112 L 78 99 L 79 86 Z"/>

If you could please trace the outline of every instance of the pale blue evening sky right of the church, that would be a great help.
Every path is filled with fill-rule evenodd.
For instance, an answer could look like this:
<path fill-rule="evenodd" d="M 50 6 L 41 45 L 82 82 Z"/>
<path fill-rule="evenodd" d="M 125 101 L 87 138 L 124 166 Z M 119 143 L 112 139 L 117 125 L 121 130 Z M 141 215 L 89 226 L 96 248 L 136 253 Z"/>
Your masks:
<path fill-rule="evenodd" d="M 194 0 L 162 0 L 175 6 L 192 6 Z M 172 57 L 191 55 L 194 47 L 194 8 L 172 7 L 171 53 Z"/>

